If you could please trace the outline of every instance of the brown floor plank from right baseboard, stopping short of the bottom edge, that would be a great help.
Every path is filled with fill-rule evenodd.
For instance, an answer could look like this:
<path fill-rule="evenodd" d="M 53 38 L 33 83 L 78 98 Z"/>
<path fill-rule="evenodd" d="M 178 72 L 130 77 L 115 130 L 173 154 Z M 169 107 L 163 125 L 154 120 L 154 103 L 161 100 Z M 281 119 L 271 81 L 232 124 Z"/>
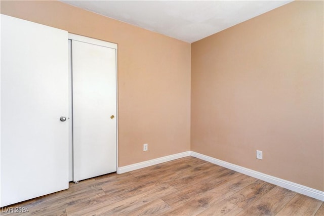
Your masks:
<path fill-rule="evenodd" d="M 245 208 L 254 201 L 258 200 L 264 194 L 268 193 L 274 187 L 275 185 L 264 182 L 262 180 L 257 180 L 248 187 L 226 198 L 226 200 L 237 205 L 240 208 Z"/>

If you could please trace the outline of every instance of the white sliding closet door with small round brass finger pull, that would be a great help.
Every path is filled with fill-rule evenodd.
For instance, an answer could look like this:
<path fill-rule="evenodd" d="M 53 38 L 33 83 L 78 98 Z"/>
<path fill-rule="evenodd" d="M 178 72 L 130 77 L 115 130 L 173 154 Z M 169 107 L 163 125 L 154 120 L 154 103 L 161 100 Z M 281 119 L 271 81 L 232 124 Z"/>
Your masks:
<path fill-rule="evenodd" d="M 74 182 L 117 168 L 116 45 L 88 39 L 72 39 Z"/>

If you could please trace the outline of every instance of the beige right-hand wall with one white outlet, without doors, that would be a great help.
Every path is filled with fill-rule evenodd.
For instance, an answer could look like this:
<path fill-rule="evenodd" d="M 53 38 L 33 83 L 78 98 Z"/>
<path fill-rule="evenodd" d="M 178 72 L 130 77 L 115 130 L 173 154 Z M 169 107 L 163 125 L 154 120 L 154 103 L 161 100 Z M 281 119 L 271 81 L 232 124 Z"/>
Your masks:
<path fill-rule="evenodd" d="M 191 150 L 324 191 L 323 38 L 302 1 L 194 42 Z"/>

